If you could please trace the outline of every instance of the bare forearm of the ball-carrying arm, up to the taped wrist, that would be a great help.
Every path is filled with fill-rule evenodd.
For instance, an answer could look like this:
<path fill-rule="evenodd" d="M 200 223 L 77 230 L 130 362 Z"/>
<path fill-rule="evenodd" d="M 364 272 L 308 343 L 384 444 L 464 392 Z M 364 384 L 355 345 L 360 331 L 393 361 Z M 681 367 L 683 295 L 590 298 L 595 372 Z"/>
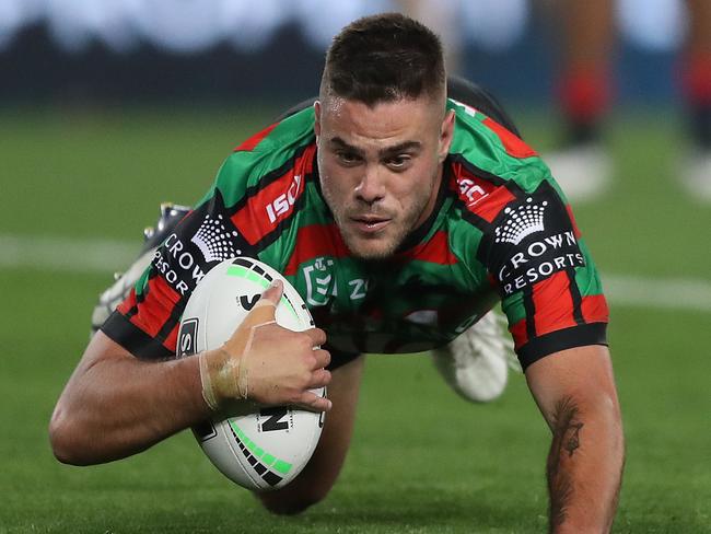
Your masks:
<path fill-rule="evenodd" d="M 96 464 L 148 449 L 208 415 L 197 358 L 102 360 L 72 376 L 53 415 L 50 439 L 60 461 Z"/>

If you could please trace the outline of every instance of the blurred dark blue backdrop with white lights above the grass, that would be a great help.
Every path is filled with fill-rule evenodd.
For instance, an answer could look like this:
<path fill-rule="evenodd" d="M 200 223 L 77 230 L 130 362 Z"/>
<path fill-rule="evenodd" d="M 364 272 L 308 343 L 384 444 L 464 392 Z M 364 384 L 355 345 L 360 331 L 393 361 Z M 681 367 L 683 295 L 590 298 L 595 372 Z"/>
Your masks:
<path fill-rule="evenodd" d="M 349 21 L 428 3 L 428 22 L 463 50 L 463 74 L 506 101 L 550 101 L 561 33 L 551 0 L 0 0 L 0 98 L 292 102 L 315 92 Z M 683 0 L 620 0 L 616 12 L 620 102 L 669 102 Z"/>

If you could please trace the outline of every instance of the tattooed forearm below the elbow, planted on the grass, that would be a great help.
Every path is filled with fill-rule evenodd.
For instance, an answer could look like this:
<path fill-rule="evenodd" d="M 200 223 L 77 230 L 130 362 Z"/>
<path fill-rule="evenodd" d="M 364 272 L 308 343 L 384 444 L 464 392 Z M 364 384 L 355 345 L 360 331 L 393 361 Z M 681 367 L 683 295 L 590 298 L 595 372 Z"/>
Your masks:
<path fill-rule="evenodd" d="M 551 532 L 609 532 L 625 455 L 616 399 L 561 397 L 550 422 L 553 439 L 547 476 Z"/>

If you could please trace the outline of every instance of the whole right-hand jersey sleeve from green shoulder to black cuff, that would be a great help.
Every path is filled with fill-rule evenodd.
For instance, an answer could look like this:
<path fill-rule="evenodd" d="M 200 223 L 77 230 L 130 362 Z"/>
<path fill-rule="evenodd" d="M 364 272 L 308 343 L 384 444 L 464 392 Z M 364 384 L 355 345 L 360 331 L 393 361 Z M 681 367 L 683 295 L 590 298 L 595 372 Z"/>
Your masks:
<path fill-rule="evenodd" d="M 605 345 L 608 311 L 597 270 L 549 170 L 521 138 L 465 112 L 457 111 L 450 158 L 458 206 L 476 229 L 469 254 L 499 293 L 522 367 Z"/>

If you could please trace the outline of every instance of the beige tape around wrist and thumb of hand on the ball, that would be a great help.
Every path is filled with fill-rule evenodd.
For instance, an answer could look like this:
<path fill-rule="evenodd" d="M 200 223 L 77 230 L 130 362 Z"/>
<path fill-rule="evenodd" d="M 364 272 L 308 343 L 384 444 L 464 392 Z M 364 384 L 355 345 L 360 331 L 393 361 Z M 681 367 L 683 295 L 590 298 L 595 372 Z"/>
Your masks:
<path fill-rule="evenodd" d="M 248 398 L 252 341 L 257 328 L 276 323 L 275 309 L 260 299 L 222 347 L 199 355 L 202 398 L 212 410 L 225 398 Z"/>

